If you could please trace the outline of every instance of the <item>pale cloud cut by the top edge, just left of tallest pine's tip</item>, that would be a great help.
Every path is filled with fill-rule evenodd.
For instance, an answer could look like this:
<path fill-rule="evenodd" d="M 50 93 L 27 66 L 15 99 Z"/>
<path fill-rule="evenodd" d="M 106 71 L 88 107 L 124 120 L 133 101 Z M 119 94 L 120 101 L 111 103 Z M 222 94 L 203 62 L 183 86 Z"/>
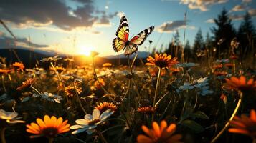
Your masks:
<path fill-rule="evenodd" d="M 223 4 L 228 0 L 180 0 L 181 4 L 186 4 L 189 9 L 199 9 L 200 11 L 208 11 L 208 7 L 214 4 Z"/>

